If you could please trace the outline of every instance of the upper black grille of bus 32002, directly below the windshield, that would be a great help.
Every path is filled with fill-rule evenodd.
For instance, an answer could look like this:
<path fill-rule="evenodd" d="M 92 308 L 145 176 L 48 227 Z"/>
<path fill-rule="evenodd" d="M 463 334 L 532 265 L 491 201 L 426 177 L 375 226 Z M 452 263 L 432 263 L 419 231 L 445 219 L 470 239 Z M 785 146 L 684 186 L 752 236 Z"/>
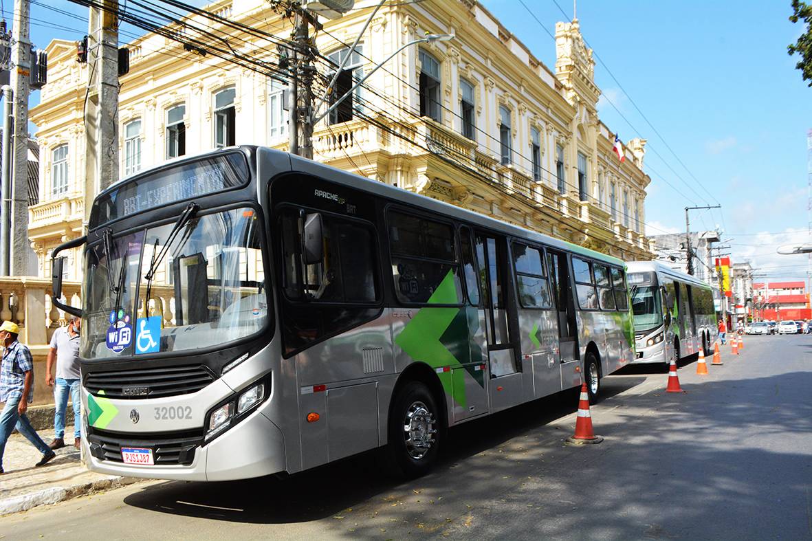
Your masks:
<path fill-rule="evenodd" d="M 89 372 L 84 377 L 84 387 L 94 396 L 140 399 L 187 395 L 213 381 L 214 375 L 202 365 L 166 366 Z"/>

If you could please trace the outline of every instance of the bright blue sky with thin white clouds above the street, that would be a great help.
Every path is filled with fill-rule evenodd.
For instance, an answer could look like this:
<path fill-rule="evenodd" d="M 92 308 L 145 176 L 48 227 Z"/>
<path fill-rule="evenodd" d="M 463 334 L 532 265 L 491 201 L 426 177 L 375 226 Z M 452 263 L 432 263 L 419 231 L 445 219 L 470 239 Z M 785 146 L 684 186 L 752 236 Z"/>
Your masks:
<path fill-rule="evenodd" d="M 557 21 L 572 19 L 572 0 L 481 2 L 555 70 L 555 41 L 539 24 L 555 34 Z M 13 2 L 2 3 L 11 19 Z M 803 279 L 808 264 L 807 256 L 775 253 L 809 237 L 812 88 L 787 54 L 804 30 L 790 14 L 790 0 L 577 3 L 581 32 L 596 54 L 600 118 L 623 141 L 648 141 L 646 232 L 684 232 L 685 206 L 721 204 L 691 210 L 692 230 L 718 227 L 732 261 L 750 262 L 765 279 Z M 32 0 L 31 17 L 32 41 L 41 48 L 87 33 L 87 9 L 67 0 Z M 38 99 L 34 93 L 32 106 Z"/>

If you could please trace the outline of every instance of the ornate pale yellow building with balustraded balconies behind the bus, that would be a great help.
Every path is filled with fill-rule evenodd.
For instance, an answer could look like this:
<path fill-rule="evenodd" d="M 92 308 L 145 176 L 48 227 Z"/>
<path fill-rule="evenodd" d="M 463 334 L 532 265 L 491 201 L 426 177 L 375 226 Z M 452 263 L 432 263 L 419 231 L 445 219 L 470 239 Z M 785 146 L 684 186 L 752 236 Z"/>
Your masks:
<path fill-rule="evenodd" d="M 320 54 L 337 64 L 377 4 L 359 0 L 342 19 L 322 21 Z M 266 0 L 220 0 L 207 10 L 291 35 L 291 22 Z M 197 15 L 187 24 L 179 35 L 205 26 L 241 54 L 278 60 L 260 32 Z M 652 258 L 641 227 L 650 182 L 642 171 L 646 141 L 628 141 L 624 162 L 613 153 L 615 136 L 598 119 L 592 51 L 577 20 L 556 25 L 551 71 L 476 0 L 395 2 L 375 15 L 339 83 L 369 73 L 426 32 L 455 38 L 408 47 L 375 71 L 352 106 L 317 124 L 314 159 L 620 258 Z M 122 177 L 218 146 L 287 147 L 283 83 L 155 34 L 128 47 L 131 68 L 119 97 Z M 51 249 L 83 229 L 89 75 L 73 42 L 55 40 L 47 50 L 48 84 L 31 111 L 41 146 L 40 202 L 29 210 L 43 276 L 50 276 Z M 322 73 L 329 65 L 317 63 Z M 80 279 L 75 256 L 69 280 Z"/>

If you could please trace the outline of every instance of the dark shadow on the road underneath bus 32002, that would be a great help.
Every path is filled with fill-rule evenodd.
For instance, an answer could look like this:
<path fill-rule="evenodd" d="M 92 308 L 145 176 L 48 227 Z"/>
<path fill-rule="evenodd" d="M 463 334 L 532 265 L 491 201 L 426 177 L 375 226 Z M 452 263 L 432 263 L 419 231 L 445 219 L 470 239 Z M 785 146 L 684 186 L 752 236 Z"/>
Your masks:
<path fill-rule="evenodd" d="M 603 379 L 603 399 L 646 381 Z M 287 478 L 268 476 L 224 483 L 167 482 L 145 487 L 124 502 L 160 513 L 252 523 L 288 523 L 332 517 L 393 489 L 433 478 L 453 483 L 464 461 L 577 411 L 579 389 L 569 389 L 487 418 L 454 426 L 438 467 L 426 478 L 403 483 L 387 475 L 378 451 L 365 452 Z M 559 427 L 550 428 L 555 435 Z M 564 439 L 570 434 L 560 435 Z"/>

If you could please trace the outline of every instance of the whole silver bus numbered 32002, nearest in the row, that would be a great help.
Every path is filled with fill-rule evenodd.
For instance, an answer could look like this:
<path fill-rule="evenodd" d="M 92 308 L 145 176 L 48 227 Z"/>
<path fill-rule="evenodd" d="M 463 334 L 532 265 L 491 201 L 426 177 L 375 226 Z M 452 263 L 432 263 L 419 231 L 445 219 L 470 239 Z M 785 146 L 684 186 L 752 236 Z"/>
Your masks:
<path fill-rule="evenodd" d="M 93 201 L 84 460 L 141 478 L 293 474 L 382 448 L 430 468 L 447 427 L 633 359 L 624 263 L 273 149 L 169 162 Z"/>

